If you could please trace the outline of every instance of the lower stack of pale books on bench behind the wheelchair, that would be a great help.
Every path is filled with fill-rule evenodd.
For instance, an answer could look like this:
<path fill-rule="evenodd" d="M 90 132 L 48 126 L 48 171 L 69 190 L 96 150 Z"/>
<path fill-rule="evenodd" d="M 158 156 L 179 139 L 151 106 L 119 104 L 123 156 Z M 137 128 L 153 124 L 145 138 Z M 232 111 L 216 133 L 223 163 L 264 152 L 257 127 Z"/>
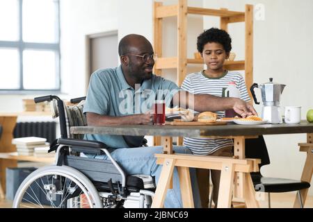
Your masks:
<path fill-rule="evenodd" d="M 16 145 L 18 155 L 34 155 L 35 148 L 45 148 L 49 150 L 47 139 L 40 137 L 15 138 L 12 140 L 12 144 Z"/>

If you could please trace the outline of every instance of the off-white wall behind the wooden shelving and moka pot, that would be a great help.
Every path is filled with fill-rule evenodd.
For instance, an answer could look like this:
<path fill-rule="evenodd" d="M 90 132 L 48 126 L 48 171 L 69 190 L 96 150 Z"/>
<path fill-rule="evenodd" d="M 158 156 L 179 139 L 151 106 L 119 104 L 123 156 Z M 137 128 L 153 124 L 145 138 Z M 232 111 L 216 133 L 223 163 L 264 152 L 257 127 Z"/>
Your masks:
<path fill-rule="evenodd" d="M 264 21 L 254 20 L 254 80 L 266 83 L 273 77 L 277 83 L 286 84 L 281 106 L 302 106 L 302 117 L 313 108 L 310 96 L 313 83 L 313 1 L 311 0 L 204 0 L 206 8 L 228 8 L 243 11 L 245 4 L 263 4 Z M 255 12 L 260 12 L 255 11 Z M 219 26 L 218 20 L 207 17 L 204 27 Z M 234 52 L 244 58 L 244 26 L 230 26 Z M 260 98 L 259 98 L 260 100 Z M 261 112 L 261 105 L 255 105 Z M 266 144 L 271 165 L 262 168 L 266 176 L 300 179 L 305 154 L 298 151 L 298 142 L 305 142 L 305 135 L 270 135 Z M 310 189 L 310 194 L 313 190 Z"/>

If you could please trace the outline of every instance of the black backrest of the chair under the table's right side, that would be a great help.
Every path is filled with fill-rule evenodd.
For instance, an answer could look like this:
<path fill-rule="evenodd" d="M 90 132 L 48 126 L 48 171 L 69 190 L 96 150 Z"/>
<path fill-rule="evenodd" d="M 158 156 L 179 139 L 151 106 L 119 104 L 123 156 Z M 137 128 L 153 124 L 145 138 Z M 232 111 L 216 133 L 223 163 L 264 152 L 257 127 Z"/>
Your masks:
<path fill-rule="evenodd" d="M 256 139 L 246 139 L 246 158 L 261 159 L 259 168 L 270 164 L 267 147 L 262 135 Z"/>

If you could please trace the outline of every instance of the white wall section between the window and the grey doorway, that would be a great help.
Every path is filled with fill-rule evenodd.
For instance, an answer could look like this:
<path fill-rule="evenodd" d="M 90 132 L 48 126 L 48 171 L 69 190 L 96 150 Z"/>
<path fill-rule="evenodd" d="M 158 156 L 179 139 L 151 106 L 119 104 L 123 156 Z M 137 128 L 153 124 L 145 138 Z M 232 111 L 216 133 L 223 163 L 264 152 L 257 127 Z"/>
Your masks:
<path fill-rule="evenodd" d="M 114 0 L 61 0 L 62 92 L 86 94 L 86 35 L 118 29 Z"/>

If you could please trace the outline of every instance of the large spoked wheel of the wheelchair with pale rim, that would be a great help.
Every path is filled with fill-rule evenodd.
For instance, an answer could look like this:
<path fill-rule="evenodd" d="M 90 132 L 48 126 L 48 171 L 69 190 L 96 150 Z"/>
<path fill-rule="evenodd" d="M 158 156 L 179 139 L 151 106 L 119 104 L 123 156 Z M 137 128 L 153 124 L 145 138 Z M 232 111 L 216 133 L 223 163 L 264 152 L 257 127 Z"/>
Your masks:
<path fill-rule="evenodd" d="M 14 208 L 101 208 L 97 189 L 83 173 L 67 166 L 33 171 L 19 186 Z"/>

